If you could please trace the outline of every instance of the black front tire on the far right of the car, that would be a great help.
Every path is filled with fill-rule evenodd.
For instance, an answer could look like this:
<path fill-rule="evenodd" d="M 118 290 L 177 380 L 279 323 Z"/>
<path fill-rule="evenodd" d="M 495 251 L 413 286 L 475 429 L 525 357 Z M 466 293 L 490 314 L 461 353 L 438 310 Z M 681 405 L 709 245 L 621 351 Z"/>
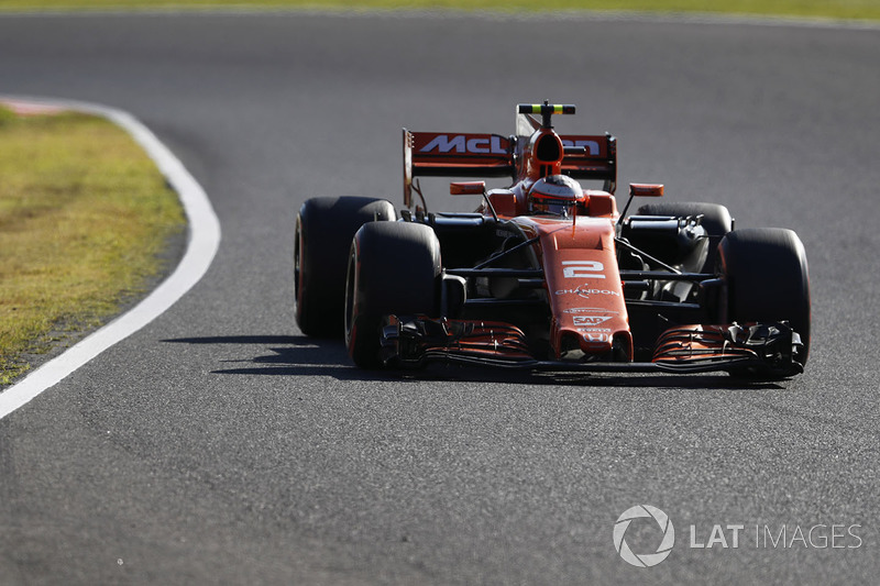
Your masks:
<path fill-rule="evenodd" d="M 801 239 L 791 230 L 756 228 L 727 234 L 718 246 L 718 273 L 727 285 L 725 322 L 788 321 L 810 353 L 810 275 Z"/>

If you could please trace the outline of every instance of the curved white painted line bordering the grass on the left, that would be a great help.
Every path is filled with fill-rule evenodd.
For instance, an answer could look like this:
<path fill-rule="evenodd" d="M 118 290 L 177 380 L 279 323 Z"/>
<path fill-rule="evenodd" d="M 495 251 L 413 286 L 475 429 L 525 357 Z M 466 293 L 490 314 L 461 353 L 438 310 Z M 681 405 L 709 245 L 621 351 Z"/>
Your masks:
<path fill-rule="evenodd" d="M 153 158 L 158 169 L 177 191 L 189 221 L 189 242 L 175 272 L 146 299 L 61 356 L 47 362 L 20 383 L 0 392 L 0 419 L 26 405 L 95 356 L 165 312 L 201 279 L 220 245 L 220 221 L 217 219 L 205 190 L 168 147 L 128 112 L 94 103 L 0 96 L 0 102 L 3 101 L 59 107 L 65 110 L 96 114 L 127 130 Z"/>

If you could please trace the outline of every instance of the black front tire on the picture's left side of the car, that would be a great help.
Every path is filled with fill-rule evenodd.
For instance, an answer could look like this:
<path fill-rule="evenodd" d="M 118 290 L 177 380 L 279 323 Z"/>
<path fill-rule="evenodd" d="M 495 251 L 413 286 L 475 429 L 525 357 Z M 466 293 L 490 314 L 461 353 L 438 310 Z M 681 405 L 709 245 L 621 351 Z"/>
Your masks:
<path fill-rule="evenodd" d="M 386 316 L 437 316 L 440 242 L 429 226 L 373 222 L 354 235 L 345 284 L 345 345 L 361 368 L 384 365 L 380 356 Z"/>

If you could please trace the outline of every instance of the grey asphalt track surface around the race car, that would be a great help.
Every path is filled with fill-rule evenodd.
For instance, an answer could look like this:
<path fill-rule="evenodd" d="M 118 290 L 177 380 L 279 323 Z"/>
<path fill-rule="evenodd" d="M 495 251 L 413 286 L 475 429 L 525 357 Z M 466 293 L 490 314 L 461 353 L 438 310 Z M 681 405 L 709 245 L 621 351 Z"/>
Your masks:
<path fill-rule="evenodd" d="M 223 230 L 168 312 L 0 420 L 0 583 L 876 582 L 878 57 L 878 30 L 674 20 L 0 18 L 0 92 L 132 112 Z M 400 126 L 506 133 L 544 98 L 618 136 L 620 184 L 800 233 L 803 376 L 370 374 L 300 334 L 299 202 L 397 203 Z M 676 537 L 650 568 L 612 539 L 642 504 Z M 738 546 L 690 546 L 715 524 Z"/>

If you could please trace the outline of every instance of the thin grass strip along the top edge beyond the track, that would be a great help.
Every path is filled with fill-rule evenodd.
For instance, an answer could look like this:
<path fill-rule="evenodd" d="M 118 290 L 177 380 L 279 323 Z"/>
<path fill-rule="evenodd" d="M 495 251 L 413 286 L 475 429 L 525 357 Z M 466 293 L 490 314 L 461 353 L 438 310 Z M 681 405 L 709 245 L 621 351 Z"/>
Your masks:
<path fill-rule="evenodd" d="M 1 10 L 307 8 L 331 10 L 457 9 L 513 11 L 710 12 L 880 20 L 878 0 L 0 0 Z"/>

